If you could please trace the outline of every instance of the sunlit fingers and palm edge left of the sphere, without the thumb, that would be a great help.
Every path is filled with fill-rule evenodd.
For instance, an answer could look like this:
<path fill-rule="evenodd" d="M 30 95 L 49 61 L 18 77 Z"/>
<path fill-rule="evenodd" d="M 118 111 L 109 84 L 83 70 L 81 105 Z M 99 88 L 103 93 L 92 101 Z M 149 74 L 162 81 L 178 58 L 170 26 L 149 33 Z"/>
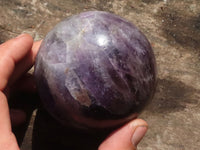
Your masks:
<path fill-rule="evenodd" d="M 34 64 L 39 45 L 40 42 L 33 44 L 32 37 L 26 34 L 0 45 L 0 150 L 19 150 L 11 120 L 12 125 L 19 125 L 26 114 L 9 111 L 7 96 L 13 83 Z"/>

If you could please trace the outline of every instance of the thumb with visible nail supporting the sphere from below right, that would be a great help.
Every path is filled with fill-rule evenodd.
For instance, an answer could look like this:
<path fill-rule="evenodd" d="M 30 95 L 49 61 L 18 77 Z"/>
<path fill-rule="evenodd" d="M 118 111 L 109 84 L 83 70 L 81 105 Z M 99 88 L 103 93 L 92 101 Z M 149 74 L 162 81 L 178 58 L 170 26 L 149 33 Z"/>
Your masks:
<path fill-rule="evenodd" d="M 147 128 L 148 124 L 144 120 L 135 119 L 114 131 L 99 146 L 99 150 L 136 150 Z"/>

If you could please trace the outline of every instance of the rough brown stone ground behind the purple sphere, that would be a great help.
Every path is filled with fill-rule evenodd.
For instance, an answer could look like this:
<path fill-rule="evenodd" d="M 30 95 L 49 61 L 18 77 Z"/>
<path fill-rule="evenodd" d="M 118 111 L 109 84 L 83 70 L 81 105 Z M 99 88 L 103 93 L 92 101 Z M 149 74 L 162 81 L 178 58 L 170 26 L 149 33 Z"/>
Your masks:
<path fill-rule="evenodd" d="M 150 127 L 138 149 L 199 150 L 199 0 L 0 0 L 0 42 L 21 33 L 42 39 L 63 18 L 88 10 L 126 18 L 145 33 L 154 49 L 158 86 L 140 116 Z M 31 150 L 34 117 L 35 113 L 21 150 Z"/>

